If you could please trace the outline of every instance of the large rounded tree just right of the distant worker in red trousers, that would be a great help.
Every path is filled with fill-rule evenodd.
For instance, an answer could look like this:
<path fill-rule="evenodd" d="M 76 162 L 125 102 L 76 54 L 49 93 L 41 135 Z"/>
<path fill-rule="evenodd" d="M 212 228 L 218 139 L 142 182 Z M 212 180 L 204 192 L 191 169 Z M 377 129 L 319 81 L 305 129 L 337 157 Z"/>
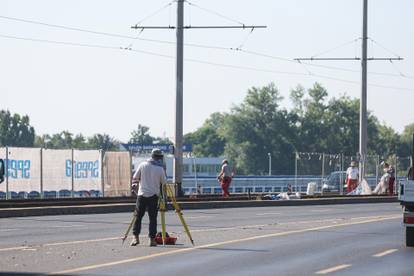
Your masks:
<path fill-rule="evenodd" d="M 295 139 L 289 114 L 280 108 L 282 99 L 274 83 L 252 87 L 224 121 L 225 156 L 235 161 L 239 172 L 268 173 L 268 153 L 273 173 L 292 170 Z"/>

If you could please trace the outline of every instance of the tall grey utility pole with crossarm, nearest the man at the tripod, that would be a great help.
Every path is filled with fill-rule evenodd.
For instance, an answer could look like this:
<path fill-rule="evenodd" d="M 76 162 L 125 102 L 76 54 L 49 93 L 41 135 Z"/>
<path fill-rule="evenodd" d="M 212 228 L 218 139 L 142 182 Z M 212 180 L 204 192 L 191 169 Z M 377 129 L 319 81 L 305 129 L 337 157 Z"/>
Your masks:
<path fill-rule="evenodd" d="M 177 26 L 132 26 L 133 29 L 176 29 L 176 94 L 175 94 L 175 136 L 174 136 L 174 170 L 173 181 L 177 185 L 177 195 L 182 196 L 183 179 L 183 75 L 184 75 L 184 29 L 259 29 L 266 26 L 184 26 L 184 0 L 177 2 Z"/>

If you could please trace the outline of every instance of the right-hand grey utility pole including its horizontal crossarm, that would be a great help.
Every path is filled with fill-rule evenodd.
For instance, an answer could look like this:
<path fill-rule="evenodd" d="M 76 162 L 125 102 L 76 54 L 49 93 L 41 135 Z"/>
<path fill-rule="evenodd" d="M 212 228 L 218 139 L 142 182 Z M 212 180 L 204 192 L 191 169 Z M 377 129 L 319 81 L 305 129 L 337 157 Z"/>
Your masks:
<path fill-rule="evenodd" d="M 368 0 L 363 0 L 362 12 L 362 55 L 361 58 L 347 58 L 347 57 L 329 57 L 329 58 L 295 58 L 297 61 L 303 60 L 361 60 L 361 99 L 359 106 L 359 181 L 365 178 L 366 160 L 367 160 L 367 145 L 368 145 L 368 115 L 367 115 L 367 61 L 368 60 L 403 60 L 401 57 L 381 57 L 368 58 Z"/>

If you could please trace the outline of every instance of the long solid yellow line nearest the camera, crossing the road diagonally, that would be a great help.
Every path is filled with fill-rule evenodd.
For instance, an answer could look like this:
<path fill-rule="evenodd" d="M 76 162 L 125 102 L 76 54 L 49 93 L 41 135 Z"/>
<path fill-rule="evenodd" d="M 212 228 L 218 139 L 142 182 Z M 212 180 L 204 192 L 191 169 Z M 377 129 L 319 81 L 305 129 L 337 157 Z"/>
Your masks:
<path fill-rule="evenodd" d="M 336 227 L 341 227 L 341 226 L 351 226 L 351 225 L 365 224 L 365 223 L 371 223 L 371 222 L 380 222 L 380 221 L 384 221 L 384 220 L 397 219 L 397 218 L 400 218 L 400 217 L 401 217 L 400 215 L 398 215 L 398 216 L 394 215 L 394 216 L 388 216 L 388 217 L 382 217 L 382 218 L 376 218 L 376 219 L 370 219 L 370 220 L 364 220 L 364 221 L 340 223 L 340 224 L 313 227 L 313 228 L 307 228 L 307 229 L 271 233 L 271 234 L 260 235 L 260 236 L 252 236 L 252 237 L 248 237 L 248 238 L 241 238 L 241 239 L 236 239 L 236 240 L 210 243 L 210 244 L 194 246 L 194 247 L 189 247 L 189 248 L 181 248 L 181 249 L 171 250 L 171 251 L 167 251 L 167 252 L 155 253 L 155 254 L 151 254 L 151 255 L 147 255 L 147 256 L 124 259 L 124 260 L 120 260 L 120 261 L 89 265 L 89 266 L 78 267 L 78 268 L 73 268 L 73 269 L 68 269 L 68 270 L 63 270 L 63 271 L 56 271 L 56 272 L 51 272 L 48 275 L 70 274 L 70 273 L 76 273 L 76 272 L 85 271 L 85 270 L 98 269 L 98 268 L 103 268 L 103 267 L 108 267 L 108 266 L 115 266 L 115 265 L 120 265 L 120 264 L 125 264 L 125 263 L 143 261 L 143 260 L 148 260 L 148 259 L 152 259 L 152 258 L 156 258 L 156 257 L 186 253 L 186 252 L 190 252 L 190 251 L 194 251 L 194 250 L 202 249 L 202 248 L 210 248 L 210 247 L 222 246 L 222 245 L 239 243 L 239 242 L 254 241 L 254 240 L 264 239 L 264 238 L 273 238 L 273 237 L 286 236 L 286 235 L 292 235 L 292 234 L 300 234 L 300 233 L 306 233 L 306 232 L 312 232 L 312 231 L 319 231 L 319 230 L 324 230 L 324 229 L 329 229 L 329 228 L 336 228 Z"/>

